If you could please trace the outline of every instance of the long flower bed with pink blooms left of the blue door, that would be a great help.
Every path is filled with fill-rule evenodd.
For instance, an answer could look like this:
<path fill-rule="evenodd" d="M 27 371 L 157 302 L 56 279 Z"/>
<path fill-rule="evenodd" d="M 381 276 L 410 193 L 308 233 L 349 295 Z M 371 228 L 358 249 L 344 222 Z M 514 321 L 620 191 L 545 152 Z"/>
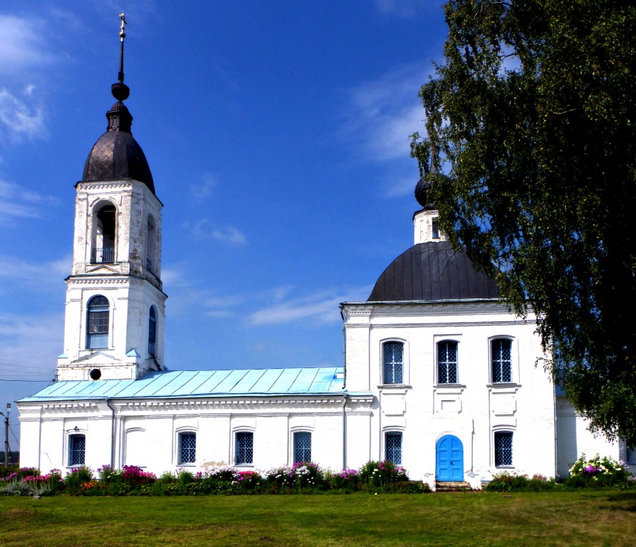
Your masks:
<path fill-rule="evenodd" d="M 202 472 L 188 469 L 157 477 L 134 465 L 111 469 L 104 465 L 96 474 L 77 467 L 62 477 L 58 469 L 40 475 L 37 469 L 21 469 L 0 479 L 0 495 L 72 496 L 183 496 L 203 494 L 314 494 L 323 491 L 415 492 L 430 491 L 410 482 L 407 472 L 391 462 L 367 462 L 361 469 L 335 472 L 313 462 L 298 462 L 264 472 L 225 465 L 210 465 Z"/>

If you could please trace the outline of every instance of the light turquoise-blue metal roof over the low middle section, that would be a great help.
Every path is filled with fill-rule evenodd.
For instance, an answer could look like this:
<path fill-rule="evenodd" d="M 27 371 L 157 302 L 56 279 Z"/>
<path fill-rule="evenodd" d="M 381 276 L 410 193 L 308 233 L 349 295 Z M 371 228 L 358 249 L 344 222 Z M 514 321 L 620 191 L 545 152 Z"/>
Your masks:
<path fill-rule="evenodd" d="M 65 380 L 21 399 L 58 401 L 85 399 L 161 399 L 176 397 L 241 397 L 249 395 L 341 395 L 344 369 L 266 368 L 235 370 L 162 370 L 139 380 Z"/>

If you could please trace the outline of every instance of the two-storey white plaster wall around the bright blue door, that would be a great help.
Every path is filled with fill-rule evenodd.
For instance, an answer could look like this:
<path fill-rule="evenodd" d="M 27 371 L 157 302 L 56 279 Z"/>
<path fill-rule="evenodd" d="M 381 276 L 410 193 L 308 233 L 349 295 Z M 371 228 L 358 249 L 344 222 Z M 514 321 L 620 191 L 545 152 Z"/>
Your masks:
<path fill-rule="evenodd" d="M 489 476 L 500 471 L 494 466 L 494 432 L 506 430 L 514 435 L 514 469 L 555 475 L 553 386 L 536 366 L 542 353 L 533 318 L 523 321 L 491 302 L 361 303 L 344 311 L 347 389 L 369 385 L 380 407 L 370 419 L 371 459 L 385 457 L 385 432 L 402 432 L 402 464 L 412 478 L 422 479 L 435 472 L 437 440 L 454 434 L 464 447 L 465 472 Z M 496 337 L 512 340 L 511 384 L 491 384 L 490 340 Z M 436 383 L 437 342 L 447 339 L 458 343 L 459 385 Z M 405 344 L 404 385 L 382 385 L 387 340 Z"/>

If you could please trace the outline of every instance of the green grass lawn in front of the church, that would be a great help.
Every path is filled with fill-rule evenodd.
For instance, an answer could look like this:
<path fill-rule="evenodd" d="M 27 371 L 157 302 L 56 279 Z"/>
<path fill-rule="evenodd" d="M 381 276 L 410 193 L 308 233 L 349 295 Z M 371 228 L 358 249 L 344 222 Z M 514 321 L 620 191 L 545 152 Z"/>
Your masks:
<path fill-rule="evenodd" d="M 0 498 L 0 546 L 630 546 L 636 493 Z"/>

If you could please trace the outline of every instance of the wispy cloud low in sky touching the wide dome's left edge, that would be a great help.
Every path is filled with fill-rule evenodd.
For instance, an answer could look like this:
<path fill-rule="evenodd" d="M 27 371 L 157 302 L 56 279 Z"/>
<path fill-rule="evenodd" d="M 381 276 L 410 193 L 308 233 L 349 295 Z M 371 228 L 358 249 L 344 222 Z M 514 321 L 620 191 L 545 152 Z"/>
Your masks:
<path fill-rule="evenodd" d="M 286 301 L 271 303 L 247 316 L 249 325 L 274 325 L 281 323 L 338 323 L 338 304 L 344 301 L 364 300 L 370 287 L 330 288 L 306 295 L 291 297 Z"/>

